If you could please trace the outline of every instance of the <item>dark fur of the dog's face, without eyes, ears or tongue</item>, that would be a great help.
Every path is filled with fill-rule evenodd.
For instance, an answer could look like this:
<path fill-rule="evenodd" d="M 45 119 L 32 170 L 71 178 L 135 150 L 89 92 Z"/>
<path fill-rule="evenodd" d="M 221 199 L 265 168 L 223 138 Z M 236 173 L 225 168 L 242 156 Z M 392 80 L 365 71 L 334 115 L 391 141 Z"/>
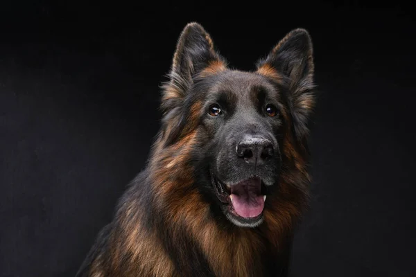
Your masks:
<path fill-rule="evenodd" d="M 279 114 L 284 109 L 279 92 L 261 75 L 223 71 L 196 80 L 192 93 L 203 102 L 198 148 L 194 151 L 195 168 L 205 180 L 199 185 L 204 186 L 205 193 L 210 193 L 211 201 L 231 222 L 237 226 L 257 226 L 263 220 L 261 213 L 251 217 L 239 215 L 230 196 L 238 186 L 244 189 L 255 184 L 258 188 L 253 188 L 257 191 L 251 198 L 268 195 L 271 187 L 277 186 L 284 124 Z M 220 112 L 212 114 L 212 107 Z M 259 180 L 250 181 L 253 178 Z M 250 201 L 255 199 L 245 200 Z"/>

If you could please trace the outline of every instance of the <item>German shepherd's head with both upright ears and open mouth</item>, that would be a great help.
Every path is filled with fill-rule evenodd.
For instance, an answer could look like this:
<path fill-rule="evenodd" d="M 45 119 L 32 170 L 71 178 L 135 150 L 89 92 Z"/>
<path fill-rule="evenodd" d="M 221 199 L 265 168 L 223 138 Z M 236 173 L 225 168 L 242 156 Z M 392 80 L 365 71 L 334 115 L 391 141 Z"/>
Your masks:
<path fill-rule="evenodd" d="M 313 107 L 311 39 L 288 33 L 257 71 L 227 69 L 199 24 L 184 28 L 164 87 L 166 145 L 196 137 L 191 163 L 196 186 L 229 222 L 263 222 L 266 197 L 279 193 L 285 148 L 300 148 Z M 291 139 L 288 139 L 291 138 Z"/>

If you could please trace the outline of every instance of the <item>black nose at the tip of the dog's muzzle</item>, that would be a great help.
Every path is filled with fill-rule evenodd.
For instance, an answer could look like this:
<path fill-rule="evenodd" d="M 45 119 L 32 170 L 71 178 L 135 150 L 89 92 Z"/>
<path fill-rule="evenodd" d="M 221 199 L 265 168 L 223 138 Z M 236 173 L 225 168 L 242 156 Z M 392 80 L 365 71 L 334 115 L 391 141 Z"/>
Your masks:
<path fill-rule="evenodd" d="M 236 147 L 237 155 L 247 163 L 259 165 L 275 154 L 272 142 L 258 137 L 246 137 Z"/>

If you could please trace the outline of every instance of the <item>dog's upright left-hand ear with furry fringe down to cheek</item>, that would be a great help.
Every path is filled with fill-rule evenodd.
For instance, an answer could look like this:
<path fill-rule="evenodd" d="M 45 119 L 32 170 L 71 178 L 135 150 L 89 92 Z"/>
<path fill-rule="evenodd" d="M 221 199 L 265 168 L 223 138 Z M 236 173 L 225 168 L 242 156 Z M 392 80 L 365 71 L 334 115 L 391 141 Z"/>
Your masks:
<path fill-rule="evenodd" d="M 207 76 L 223 71 L 226 63 L 214 50 L 214 44 L 207 31 L 198 23 L 185 26 L 176 45 L 169 81 L 162 87 L 162 136 L 166 145 L 180 137 L 189 113 L 184 111 L 184 98 L 198 76 Z"/>

